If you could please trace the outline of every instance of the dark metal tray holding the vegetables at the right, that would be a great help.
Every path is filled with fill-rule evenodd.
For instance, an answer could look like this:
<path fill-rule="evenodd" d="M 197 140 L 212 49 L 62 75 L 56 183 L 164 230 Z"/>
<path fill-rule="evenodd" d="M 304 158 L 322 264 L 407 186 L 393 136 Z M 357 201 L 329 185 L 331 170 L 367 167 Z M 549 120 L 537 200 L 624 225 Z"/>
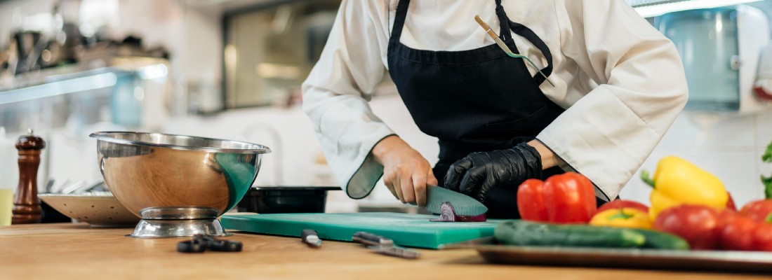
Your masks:
<path fill-rule="evenodd" d="M 441 248 L 472 248 L 486 262 L 510 265 L 772 273 L 770 252 L 513 246 L 496 244 L 493 237 L 443 245 Z"/>

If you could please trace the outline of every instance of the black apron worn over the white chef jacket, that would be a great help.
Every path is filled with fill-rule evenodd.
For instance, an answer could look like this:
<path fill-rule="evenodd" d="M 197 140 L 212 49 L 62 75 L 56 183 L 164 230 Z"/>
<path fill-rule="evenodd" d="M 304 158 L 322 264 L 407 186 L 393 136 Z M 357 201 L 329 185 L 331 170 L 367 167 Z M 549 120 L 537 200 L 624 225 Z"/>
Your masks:
<path fill-rule="evenodd" d="M 427 51 L 399 42 L 409 0 L 397 6 L 388 45 L 388 66 L 399 95 L 422 132 L 439 139 L 439 161 L 433 172 L 442 185 L 453 162 L 472 152 L 512 148 L 536 137 L 564 109 L 550 101 L 523 59 L 510 58 L 498 45 L 461 52 Z M 496 0 L 499 38 L 519 54 L 510 29 L 547 58 L 544 75 L 552 73 L 552 54 L 533 31 L 507 18 Z M 459 18 L 476 25 L 473 18 Z M 544 178 L 561 173 L 544 171 Z M 544 179 L 541 178 L 541 179 Z M 519 218 L 516 186 L 493 188 L 486 197 L 489 218 Z"/>

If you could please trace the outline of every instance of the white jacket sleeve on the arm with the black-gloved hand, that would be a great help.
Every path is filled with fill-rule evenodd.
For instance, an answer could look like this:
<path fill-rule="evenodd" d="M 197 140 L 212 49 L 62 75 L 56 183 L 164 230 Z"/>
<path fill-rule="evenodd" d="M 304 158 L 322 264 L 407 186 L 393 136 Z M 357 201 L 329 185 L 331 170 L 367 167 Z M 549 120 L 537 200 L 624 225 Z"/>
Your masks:
<path fill-rule="evenodd" d="M 537 138 L 615 198 L 686 104 L 686 75 L 672 42 L 623 0 L 554 4 L 587 94 Z"/>

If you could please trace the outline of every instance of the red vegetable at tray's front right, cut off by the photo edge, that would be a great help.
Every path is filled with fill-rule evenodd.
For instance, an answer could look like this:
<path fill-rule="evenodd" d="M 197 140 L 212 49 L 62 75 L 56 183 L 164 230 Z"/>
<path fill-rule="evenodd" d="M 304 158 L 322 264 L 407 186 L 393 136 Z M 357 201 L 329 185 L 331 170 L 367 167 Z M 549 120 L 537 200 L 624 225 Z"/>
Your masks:
<path fill-rule="evenodd" d="M 772 224 L 733 213 L 724 215 L 721 245 L 727 250 L 772 252 Z"/>

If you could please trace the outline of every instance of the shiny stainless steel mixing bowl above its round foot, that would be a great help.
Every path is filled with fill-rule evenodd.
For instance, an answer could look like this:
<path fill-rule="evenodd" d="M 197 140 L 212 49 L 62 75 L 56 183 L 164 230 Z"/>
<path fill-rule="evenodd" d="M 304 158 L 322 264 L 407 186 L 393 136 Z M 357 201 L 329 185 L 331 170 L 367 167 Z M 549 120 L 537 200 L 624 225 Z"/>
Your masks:
<path fill-rule="evenodd" d="M 97 138 L 107 188 L 140 217 L 145 208 L 214 208 L 216 218 L 249 191 L 262 154 L 271 152 L 247 142 L 161 133 L 96 132 L 90 137 Z"/>

